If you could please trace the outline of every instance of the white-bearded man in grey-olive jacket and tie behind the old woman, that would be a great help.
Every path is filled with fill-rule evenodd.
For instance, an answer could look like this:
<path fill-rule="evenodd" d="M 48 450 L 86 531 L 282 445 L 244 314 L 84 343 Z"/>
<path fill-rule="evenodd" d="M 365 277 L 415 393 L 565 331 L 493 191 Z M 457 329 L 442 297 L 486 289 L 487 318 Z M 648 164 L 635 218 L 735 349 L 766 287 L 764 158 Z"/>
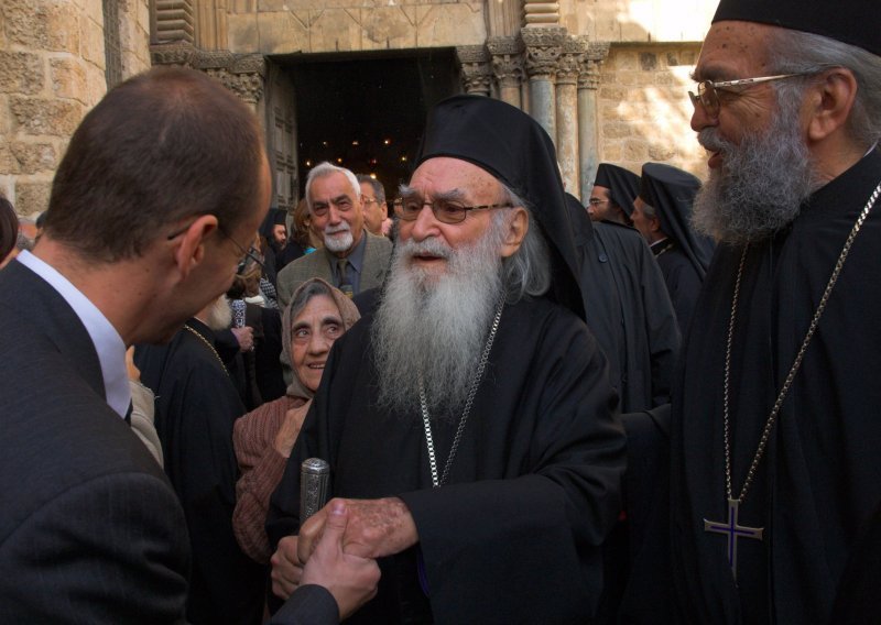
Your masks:
<path fill-rule="evenodd" d="M 382 285 L 392 244 L 365 229 L 361 186 L 350 171 L 319 163 L 306 178 L 312 228 L 324 248 L 285 266 L 278 278 L 279 307 L 305 281 L 319 277 L 350 296 Z"/>

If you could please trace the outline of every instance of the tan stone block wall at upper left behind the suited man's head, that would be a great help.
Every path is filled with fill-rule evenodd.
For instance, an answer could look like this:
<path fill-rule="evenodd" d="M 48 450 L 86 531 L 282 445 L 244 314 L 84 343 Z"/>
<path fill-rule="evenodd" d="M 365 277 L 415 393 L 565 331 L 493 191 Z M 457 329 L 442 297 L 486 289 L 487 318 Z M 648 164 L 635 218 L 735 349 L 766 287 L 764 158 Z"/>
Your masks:
<path fill-rule="evenodd" d="M 148 0 L 119 0 L 123 77 L 150 66 Z M 0 4 L 0 193 L 45 210 L 55 168 L 107 90 L 100 0 Z"/>

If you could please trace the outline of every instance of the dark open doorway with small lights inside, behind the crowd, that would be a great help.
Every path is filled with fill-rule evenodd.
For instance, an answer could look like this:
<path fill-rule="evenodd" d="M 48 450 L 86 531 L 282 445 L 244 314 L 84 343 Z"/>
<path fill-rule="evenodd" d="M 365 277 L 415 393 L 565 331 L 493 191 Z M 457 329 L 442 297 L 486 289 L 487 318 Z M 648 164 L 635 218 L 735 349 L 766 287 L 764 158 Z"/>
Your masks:
<path fill-rule="evenodd" d="M 296 94 L 300 180 L 329 161 L 376 175 L 394 197 L 412 172 L 428 109 L 460 91 L 452 50 L 407 54 L 274 58 Z"/>

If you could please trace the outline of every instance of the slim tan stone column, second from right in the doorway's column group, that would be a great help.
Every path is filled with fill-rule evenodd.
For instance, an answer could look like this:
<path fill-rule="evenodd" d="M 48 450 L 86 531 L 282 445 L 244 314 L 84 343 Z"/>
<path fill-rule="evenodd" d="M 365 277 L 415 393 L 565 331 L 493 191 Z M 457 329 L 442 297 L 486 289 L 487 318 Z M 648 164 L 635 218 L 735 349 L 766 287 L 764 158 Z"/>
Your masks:
<path fill-rule="evenodd" d="M 574 196 L 580 191 L 578 174 L 578 75 L 585 54 L 581 40 L 566 37 L 563 53 L 557 62 L 556 73 L 556 116 L 557 116 L 557 161 L 563 183 Z"/>

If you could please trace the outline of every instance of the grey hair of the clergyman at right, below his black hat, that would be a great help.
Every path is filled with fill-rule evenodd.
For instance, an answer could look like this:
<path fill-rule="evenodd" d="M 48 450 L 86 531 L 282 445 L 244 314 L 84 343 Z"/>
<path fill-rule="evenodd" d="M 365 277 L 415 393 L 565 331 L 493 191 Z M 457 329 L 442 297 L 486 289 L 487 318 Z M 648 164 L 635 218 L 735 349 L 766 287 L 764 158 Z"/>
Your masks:
<path fill-rule="evenodd" d="M 868 149 L 881 139 L 881 56 L 839 41 L 788 29 L 775 29 L 769 43 L 772 74 L 817 74 L 833 67 L 853 73 L 859 86 L 847 121 L 850 136 Z M 777 99 L 801 99 L 811 79 L 774 84 Z"/>

